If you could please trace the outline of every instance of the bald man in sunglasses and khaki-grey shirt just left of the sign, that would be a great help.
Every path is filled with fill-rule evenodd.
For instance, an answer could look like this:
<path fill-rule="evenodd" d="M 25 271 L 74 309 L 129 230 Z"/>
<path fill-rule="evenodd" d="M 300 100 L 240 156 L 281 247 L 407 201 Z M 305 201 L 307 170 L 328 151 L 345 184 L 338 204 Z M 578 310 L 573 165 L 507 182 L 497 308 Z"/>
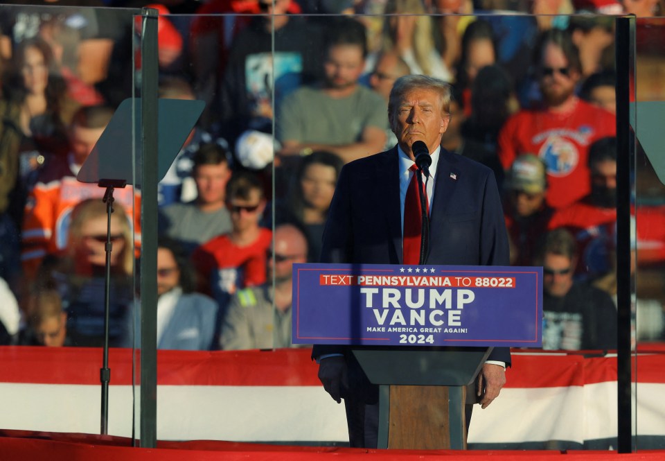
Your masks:
<path fill-rule="evenodd" d="M 305 347 L 291 344 L 292 267 L 307 262 L 308 242 L 293 224 L 275 227 L 267 252 L 267 281 L 231 297 L 220 346 L 224 350 Z"/>

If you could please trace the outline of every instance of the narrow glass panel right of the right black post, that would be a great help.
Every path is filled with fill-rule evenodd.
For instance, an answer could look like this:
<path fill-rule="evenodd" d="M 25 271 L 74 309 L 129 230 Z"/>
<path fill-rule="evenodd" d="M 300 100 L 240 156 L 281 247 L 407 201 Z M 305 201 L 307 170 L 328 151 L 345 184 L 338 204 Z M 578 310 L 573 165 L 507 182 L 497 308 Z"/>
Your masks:
<path fill-rule="evenodd" d="M 662 69 L 665 55 L 662 34 L 665 19 L 640 15 L 636 21 L 637 150 L 635 162 L 635 221 L 637 253 L 635 299 L 637 309 L 637 345 L 644 351 L 637 359 L 637 449 L 663 449 L 662 430 L 650 427 L 649 399 L 653 392 L 650 374 L 662 358 L 665 323 L 663 313 L 664 255 L 662 225 L 665 180 L 662 155 L 662 131 L 654 129 L 654 117 L 662 116 L 665 88 Z M 663 411 L 655 409 L 662 417 Z"/>

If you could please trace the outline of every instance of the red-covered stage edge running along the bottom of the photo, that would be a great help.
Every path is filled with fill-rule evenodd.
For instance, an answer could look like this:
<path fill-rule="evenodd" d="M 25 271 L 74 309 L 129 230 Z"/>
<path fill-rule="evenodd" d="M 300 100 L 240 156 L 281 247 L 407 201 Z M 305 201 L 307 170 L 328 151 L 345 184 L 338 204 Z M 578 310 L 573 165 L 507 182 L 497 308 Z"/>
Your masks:
<path fill-rule="evenodd" d="M 240 442 L 159 442 L 156 449 L 128 446 L 123 437 L 0 431 L 3 461 L 662 461 L 665 451 L 362 450 Z"/>

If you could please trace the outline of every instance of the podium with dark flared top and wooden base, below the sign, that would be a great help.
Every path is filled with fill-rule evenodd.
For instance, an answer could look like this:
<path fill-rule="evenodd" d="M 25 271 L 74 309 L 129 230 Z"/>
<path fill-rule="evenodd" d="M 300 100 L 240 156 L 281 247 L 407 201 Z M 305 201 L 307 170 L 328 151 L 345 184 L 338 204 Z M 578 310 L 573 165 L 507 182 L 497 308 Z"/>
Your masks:
<path fill-rule="evenodd" d="M 466 388 L 491 348 L 351 349 L 379 385 L 380 449 L 466 449 Z"/>

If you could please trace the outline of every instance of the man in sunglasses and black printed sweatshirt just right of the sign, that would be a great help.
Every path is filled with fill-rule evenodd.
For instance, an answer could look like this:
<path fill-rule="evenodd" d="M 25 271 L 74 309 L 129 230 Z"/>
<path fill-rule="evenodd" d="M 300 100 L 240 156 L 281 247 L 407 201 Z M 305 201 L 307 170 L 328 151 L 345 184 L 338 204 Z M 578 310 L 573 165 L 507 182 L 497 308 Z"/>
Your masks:
<path fill-rule="evenodd" d="M 575 281 L 577 244 L 566 229 L 547 234 L 535 266 L 542 266 L 542 349 L 615 349 L 617 309 L 605 291 Z"/>

